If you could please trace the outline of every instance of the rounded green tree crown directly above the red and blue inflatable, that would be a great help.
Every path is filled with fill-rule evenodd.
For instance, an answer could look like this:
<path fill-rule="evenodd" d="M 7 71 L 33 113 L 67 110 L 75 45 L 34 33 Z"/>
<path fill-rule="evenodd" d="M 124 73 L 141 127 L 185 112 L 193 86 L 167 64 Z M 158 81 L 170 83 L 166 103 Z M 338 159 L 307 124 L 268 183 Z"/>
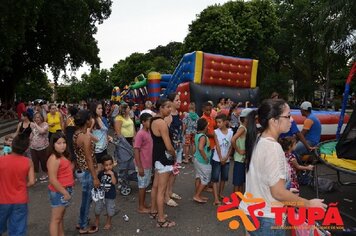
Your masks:
<path fill-rule="evenodd" d="M 278 22 L 276 5 L 271 1 L 231 1 L 210 6 L 189 26 L 185 47 L 187 51 L 258 59 L 261 81 L 278 59 L 273 47 Z"/>

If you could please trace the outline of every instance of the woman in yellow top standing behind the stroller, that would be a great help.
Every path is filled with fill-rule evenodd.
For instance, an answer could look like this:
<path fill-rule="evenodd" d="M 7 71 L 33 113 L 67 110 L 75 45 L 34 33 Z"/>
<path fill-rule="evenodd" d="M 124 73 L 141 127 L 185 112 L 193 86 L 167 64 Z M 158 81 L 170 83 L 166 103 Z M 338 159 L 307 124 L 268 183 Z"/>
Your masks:
<path fill-rule="evenodd" d="M 127 103 L 121 105 L 120 113 L 115 118 L 114 128 L 115 134 L 117 136 L 124 136 L 127 142 L 132 146 L 136 131 L 135 124 L 130 118 L 130 107 Z"/>

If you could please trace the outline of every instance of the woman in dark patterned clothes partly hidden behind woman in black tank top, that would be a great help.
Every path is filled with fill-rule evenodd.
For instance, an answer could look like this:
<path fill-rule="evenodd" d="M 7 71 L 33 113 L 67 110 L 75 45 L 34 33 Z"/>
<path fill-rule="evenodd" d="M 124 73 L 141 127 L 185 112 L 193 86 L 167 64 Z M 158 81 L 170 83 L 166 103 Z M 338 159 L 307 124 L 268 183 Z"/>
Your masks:
<path fill-rule="evenodd" d="M 179 95 L 176 93 L 169 94 L 168 99 L 171 101 L 172 104 L 171 114 L 166 118 L 164 118 L 164 120 L 168 124 L 169 132 L 172 133 L 173 135 L 172 136 L 173 147 L 177 154 L 176 163 L 180 165 L 182 164 L 182 156 L 183 156 L 183 122 L 179 117 L 178 109 L 180 108 L 181 101 Z M 170 176 L 168 186 L 167 186 L 167 191 L 166 191 L 166 197 L 165 197 L 166 204 L 171 207 L 178 206 L 178 203 L 173 199 L 176 200 L 182 199 L 181 196 L 179 196 L 176 193 L 173 193 L 173 184 L 175 182 L 175 179 L 176 179 L 176 175 Z"/>

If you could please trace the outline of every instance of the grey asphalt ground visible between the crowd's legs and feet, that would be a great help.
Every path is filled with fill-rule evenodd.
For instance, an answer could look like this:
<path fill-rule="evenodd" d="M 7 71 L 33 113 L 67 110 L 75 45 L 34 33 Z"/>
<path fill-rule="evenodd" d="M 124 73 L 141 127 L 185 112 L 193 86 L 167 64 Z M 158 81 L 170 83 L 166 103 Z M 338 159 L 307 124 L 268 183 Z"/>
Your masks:
<path fill-rule="evenodd" d="M 136 183 L 132 183 L 133 192 L 131 195 L 123 197 L 118 194 L 116 202 L 120 211 L 113 218 L 113 229 L 111 231 L 102 229 L 105 220 L 105 217 L 102 217 L 101 228 L 96 235 L 243 235 L 242 229 L 231 231 L 228 229 L 228 222 L 219 222 L 216 219 L 216 207 L 212 205 L 212 200 L 205 205 L 193 202 L 193 172 L 193 165 L 182 169 L 175 185 L 175 192 L 179 193 L 183 199 L 178 201 L 179 206 L 176 208 L 166 207 L 169 219 L 178 224 L 176 227 L 171 229 L 156 228 L 155 221 L 148 215 L 138 214 L 136 212 L 137 187 Z M 29 235 L 48 234 L 50 206 L 46 188 L 47 183 L 39 183 L 30 190 Z M 232 191 L 231 184 L 228 184 L 226 190 L 226 193 Z M 73 203 L 65 215 L 66 235 L 77 235 L 75 224 L 79 214 L 80 194 L 81 189 L 77 183 Z M 212 198 L 210 193 L 205 195 Z M 125 214 L 129 216 L 128 222 L 122 218 Z M 90 216 L 93 218 L 94 213 L 91 213 Z M 138 229 L 139 233 L 137 233 Z"/>

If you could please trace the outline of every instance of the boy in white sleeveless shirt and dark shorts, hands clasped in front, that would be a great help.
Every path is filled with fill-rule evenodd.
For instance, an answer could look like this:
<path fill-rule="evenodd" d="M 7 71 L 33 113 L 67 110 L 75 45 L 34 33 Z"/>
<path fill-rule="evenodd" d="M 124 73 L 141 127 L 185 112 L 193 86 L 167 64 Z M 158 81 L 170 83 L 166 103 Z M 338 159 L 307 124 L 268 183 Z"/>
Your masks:
<path fill-rule="evenodd" d="M 214 205 L 220 205 L 220 199 L 224 198 L 225 182 L 229 177 L 230 155 L 232 151 L 231 138 L 232 130 L 227 128 L 227 117 L 225 114 L 217 115 L 217 129 L 214 130 L 214 139 L 216 143 L 216 151 L 211 160 L 212 174 L 211 182 L 213 183 Z M 219 190 L 218 183 L 220 181 Z"/>

